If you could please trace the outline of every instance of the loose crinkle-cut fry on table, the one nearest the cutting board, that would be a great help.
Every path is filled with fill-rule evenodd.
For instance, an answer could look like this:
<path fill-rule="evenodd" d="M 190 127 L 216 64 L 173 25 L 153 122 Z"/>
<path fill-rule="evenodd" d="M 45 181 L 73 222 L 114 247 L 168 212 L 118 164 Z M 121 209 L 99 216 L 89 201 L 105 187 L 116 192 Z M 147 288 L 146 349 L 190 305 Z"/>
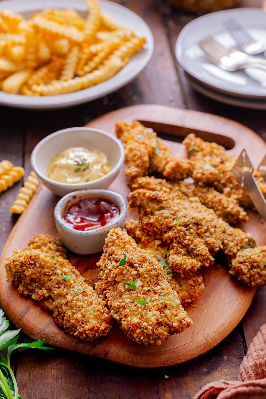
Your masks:
<path fill-rule="evenodd" d="M 33 194 L 37 190 L 38 185 L 39 182 L 37 180 L 36 174 L 34 172 L 30 172 L 30 176 L 28 176 L 24 186 L 20 189 L 16 201 L 14 201 L 12 207 L 10 208 L 10 212 L 18 214 L 23 213 Z"/>

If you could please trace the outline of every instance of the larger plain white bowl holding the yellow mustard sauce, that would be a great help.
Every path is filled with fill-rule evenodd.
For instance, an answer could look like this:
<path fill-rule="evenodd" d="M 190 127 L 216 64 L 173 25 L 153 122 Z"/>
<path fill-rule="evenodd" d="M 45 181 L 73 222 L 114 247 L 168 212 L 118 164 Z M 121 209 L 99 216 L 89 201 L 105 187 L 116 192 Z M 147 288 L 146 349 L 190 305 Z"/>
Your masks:
<path fill-rule="evenodd" d="M 69 184 L 59 183 L 47 176 L 47 165 L 55 154 L 70 147 L 84 147 L 88 150 L 99 148 L 108 156 L 112 170 L 100 179 L 92 182 Z M 38 178 L 51 191 L 60 197 L 76 190 L 88 188 L 107 188 L 116 178 L 124 163 L 124 148 L 117 138 L 102 130 L 87 127 L 73 127 L 59 130 L 43 138 L 32 151 L 30 158 L 32 169 Z"/>

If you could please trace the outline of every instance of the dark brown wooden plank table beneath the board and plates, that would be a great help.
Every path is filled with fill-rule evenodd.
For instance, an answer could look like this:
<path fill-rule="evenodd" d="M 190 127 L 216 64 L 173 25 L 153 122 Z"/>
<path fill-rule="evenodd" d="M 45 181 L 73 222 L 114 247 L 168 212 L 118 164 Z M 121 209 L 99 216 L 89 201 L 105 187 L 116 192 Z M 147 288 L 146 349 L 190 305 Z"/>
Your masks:
<path fill-rule="evenodd" d="M 116 0 L 140 15 L 155 39 L 152 60 L 130 85 L 97 101 L 58 111 L 0 108 L 0 159 L 22 165 L 29 174 L 33 147 L 56 130 L 82 126 L 106 112 L 141 103 L 204 111 L 252 128 L 266 140 L 265 111 L 223 105 L 196 93 L 174 57 L 181 29 L 195 14 L 164 0 Z M 73 3 L 74 4 L 74 3 Z M 260 7 L 262 0 L 242 0 L 240 7 Z M 0 195 L 0 250 L 17 216 L 9 212 L 20 184 Z M 45 212 L 45 209 L 43 209 Z M 204 356 L 169 369 L 133 369 L 59 349 L 14 355 L 14 370 L 23 399 L 166 399 L 192 398 L 217 379 L 237 379 L 238 368 L 253 336 L 266 322 L 266 287 L 258 288 L 242 322 L 219 346 Z"/>

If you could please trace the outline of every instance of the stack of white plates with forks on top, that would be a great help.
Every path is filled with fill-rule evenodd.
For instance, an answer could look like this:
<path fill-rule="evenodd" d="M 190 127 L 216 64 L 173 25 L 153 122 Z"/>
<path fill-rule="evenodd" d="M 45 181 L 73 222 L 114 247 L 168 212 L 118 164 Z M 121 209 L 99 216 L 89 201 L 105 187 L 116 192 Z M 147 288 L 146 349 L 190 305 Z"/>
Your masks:
<path fill-rule="evenodd" d="M 213 12 L 185 26 L 176 42 L 177 61 L 186 71 L 191 85 L 200 93 L 222 103 L 252 109 L 266 109 L 266 71 L 246 68 L 224 71 L 208 60 L 199 47 L 207 36 L 227 47 L 236 43 L 227 32 L 224 21 L 234 17 L 254 37 L 266 42 L 266 12 L 259 8 L 239 8 Z M 256 57 L 266 57 L 260 54 Z"/>

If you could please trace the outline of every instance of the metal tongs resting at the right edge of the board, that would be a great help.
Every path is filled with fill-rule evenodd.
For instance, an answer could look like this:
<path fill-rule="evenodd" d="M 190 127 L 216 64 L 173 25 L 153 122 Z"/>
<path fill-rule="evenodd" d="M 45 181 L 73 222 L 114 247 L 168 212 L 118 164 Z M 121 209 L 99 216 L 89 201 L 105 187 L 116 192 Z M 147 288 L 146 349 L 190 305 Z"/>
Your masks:
<path fill-rule="evenodd" d="M 264 156 L 262 162 L 260 162 L 258 170 L 266 181 L 266 155 Z M 234 164 L 233 173 L 240 186 L 246 188 L 258 213 L 266 221 L 266 199 L 264 198 L 264 195 L 262 194 L 256 182 L 253 171 L 254 167 L 250 161 L 248 153 L 245 149 L 243 149 L 236 160 L 236 163 Z"/>

